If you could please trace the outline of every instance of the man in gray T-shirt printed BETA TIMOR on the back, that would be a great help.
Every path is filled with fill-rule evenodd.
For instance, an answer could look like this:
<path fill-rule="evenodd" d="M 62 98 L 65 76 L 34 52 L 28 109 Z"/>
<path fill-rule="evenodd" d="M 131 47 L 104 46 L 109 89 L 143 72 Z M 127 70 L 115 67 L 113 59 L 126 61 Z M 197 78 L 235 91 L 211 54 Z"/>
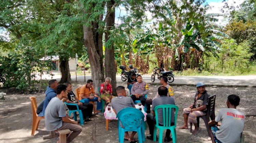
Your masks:
<path fill-rule="evenodd" d="M 239 143 L 241 133 L 244 128 L 244 113 L 238 111 L 236 108 L 239 105 L 240 98 L 237 95 L 229 95 L 227 100 L 227 107 L 219 110 L 215 120 L 210 121 L 212 126 L 211 138 L 216 143 Z M 216 126 L 221 121 L 221 127 Z"/>

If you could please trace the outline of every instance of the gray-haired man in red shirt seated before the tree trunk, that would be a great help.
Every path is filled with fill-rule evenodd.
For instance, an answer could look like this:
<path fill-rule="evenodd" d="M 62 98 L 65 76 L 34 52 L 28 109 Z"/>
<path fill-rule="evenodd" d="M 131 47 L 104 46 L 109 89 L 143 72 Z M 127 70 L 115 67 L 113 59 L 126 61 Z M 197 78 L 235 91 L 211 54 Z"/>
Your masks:
<path fill-rule="evenodd" d="M 106 77 L 105 82 L 100 84 L 100 97 L 105 100 L 106 105 L 111 102 L 111 99 L 115 96 L 112 96 L 112 86 L 110 84 L 111 78 Z"/>

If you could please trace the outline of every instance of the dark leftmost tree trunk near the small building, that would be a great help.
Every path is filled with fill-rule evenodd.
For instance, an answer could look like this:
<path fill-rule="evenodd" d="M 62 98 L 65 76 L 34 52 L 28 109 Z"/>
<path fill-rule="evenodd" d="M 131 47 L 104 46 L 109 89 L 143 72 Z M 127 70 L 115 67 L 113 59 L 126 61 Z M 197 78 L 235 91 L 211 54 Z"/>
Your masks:
<path fill-rule="evenodd" d="M 70 73 L 69 73 L 69 59 L 60 59 L 60 72 L 61 72 L 61 79 L 59 83 L 69 82 L 71 80 Z"/>

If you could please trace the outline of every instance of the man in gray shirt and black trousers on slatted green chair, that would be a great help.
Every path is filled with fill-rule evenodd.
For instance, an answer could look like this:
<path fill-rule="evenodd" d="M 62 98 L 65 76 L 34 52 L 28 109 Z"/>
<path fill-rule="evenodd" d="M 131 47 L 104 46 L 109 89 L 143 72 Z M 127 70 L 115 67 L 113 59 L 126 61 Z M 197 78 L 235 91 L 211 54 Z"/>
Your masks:
<path fill-rule="evenodd" d="M 156 118 L 155 118 L 155 107 L 158 105 L 166 105 L 166 104 L 172 104 L 175 105 L 174 98 L 166 96 L 168 93 L 168 89 L 165 86 L 161 86 L 158 88 L 158 94 L 160 95 L 159 98 L 156 98 L 152 102 L 152 114 L 147 114 L 147 124 L 148 128 L 150 130 L 150 135 L 147 136 L 147 139 L 153 140 L 153 134 L 154 134 L 154 127 L 156 124 Z M 157 110 L 158 113 L 158 124 L 163 125 L 163 112 L 162 109 Z M 174 125 L 174 109 L 171 109 L 171 126 Z M 165 142 L 171 141 L 171 130 L 166 130 L 165 135 Z"/>

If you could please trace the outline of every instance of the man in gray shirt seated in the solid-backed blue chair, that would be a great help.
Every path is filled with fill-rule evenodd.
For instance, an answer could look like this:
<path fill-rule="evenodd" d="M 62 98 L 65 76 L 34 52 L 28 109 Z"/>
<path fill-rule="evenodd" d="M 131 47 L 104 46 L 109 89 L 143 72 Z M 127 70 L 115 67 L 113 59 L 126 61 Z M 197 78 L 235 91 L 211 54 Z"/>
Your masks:
<path fill-rule="evenodd" d="M 124 108 L 133 107 L 135 108 L 135 104 L 130 97 L 126 97 L 126 90 L 124 86 L 118 86 L 116 88 L 117 97 L 113 98 L 111 101 L 111 106 L 113 111 L 118 114 Z M 133 136 L 136 134 L 136 131 L 132 131 L 131 136 L 129 136 L 128 131 L 125 132 L 125 140 L 129 140 L 130 143 L 135 143 L 136 140 L 133 139 Z"/>

